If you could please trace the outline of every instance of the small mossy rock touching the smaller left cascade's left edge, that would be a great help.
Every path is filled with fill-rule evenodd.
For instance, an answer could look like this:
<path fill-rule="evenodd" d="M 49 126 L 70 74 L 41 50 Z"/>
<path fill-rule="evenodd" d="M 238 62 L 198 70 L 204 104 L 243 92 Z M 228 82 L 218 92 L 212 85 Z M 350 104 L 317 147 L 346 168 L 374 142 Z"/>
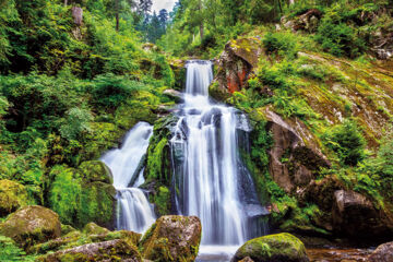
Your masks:
<path fill-rule="evenodd" d="M 110 169 L 100 160 L 84 162 L 79 166 L 84 182 L 114 183 Z"/>

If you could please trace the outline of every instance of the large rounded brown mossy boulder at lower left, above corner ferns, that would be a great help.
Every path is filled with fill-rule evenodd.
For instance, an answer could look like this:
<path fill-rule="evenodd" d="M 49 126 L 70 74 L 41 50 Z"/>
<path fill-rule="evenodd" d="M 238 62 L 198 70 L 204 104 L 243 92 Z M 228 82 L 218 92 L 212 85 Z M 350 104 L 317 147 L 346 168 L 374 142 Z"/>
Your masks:
<path fill-rule="evenodd" d="M 0 226 L 0 235 L 12 238 L 24 249 L 58 238 L 60 234 L 59 215 L 39 205 L 22 207 Z"/>

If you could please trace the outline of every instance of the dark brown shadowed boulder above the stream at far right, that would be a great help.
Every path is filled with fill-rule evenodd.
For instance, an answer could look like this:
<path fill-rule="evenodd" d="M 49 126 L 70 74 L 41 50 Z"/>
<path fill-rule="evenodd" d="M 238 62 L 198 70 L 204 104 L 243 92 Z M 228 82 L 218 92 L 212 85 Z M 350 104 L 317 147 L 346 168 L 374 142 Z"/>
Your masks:
<path fill-rule="evenodd" d="M 333 226 L 334 230 L 350 237 L 389 236 L 391 228 L 383 219 L 384 214 L 377 211 L 364 195 L 337 190 L 334 192 Z"/>

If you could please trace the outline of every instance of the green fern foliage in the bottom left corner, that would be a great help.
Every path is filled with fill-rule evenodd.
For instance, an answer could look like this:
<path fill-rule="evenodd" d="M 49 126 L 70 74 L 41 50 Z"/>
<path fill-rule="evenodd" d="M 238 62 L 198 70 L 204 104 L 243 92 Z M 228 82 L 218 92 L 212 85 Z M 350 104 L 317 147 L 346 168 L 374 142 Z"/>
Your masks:
<path fill-rule="evenodd" d="M 33 262 L 35 258 L 33 255 L 26 255 L 11 238 L 0 235 L 0 261 Z"/>

